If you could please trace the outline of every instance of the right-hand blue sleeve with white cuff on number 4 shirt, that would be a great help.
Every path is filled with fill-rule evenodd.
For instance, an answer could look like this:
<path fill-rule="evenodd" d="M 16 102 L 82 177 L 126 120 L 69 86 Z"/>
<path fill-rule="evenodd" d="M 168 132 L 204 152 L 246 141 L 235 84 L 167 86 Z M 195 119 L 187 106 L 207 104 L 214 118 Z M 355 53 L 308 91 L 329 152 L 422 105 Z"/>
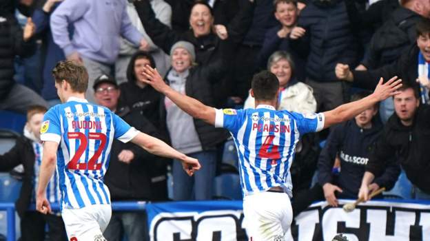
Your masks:
<path fill-rule="evenodd" d="M 299 114 L 291 113 L 296 120 L 298 132 L 303 135 L 309 132 L 320 132 L 324 127 L 325 116 L 323 113 L 318 114 Z"/>

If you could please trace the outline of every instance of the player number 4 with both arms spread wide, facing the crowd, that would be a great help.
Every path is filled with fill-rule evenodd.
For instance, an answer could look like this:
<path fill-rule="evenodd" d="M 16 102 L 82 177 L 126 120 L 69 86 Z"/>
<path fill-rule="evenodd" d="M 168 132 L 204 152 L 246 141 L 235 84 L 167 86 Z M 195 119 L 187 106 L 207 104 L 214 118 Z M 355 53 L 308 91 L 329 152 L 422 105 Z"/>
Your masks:
<path fill-rule="evenodd" d="M 336 109 L 303 115 L 278 111 L 279 81 L 263 71 L 252 79 L 251 95 L 255 109 L 215 109 L 170 88 L 152 67 L 145 67 L 147 81 L 158 92 L 195 118 L 229 130 L 239 156 L 240 185 L 243 193 L 245 228 L 250 240 L 284 240 L 292 221 L 291 176 L 289 167 L 300 138 L 347 121 L 369 107 L 397 94 L 402 85 L 397 77 L 382 84 L 373 94 Z"/>

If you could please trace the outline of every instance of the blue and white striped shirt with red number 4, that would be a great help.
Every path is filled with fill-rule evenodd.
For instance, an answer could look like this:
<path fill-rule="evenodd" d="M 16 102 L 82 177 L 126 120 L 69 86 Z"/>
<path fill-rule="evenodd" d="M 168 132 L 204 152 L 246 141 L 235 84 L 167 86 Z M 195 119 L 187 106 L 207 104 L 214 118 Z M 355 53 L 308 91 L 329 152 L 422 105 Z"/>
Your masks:
<path fill-rule="evenodd" d="M 234 138 L 245 195 L 283 187 L 291 197 L 289 168 L 296 144 L 300 135 L 323 129 L 324 115 L 276 111 L 270 105 L 216 109 L 215 126 L 227 128 Z"/>

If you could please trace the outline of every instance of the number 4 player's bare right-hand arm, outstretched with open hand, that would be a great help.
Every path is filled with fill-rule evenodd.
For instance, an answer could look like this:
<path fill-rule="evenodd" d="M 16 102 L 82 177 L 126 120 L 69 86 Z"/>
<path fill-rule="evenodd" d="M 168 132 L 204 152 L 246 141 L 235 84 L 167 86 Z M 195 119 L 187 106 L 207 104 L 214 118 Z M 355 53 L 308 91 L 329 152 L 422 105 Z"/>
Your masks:
<path fill-rule="evenodd" d="M 324 128 L 353 118 L 379 101 L 384 101 L 386 98 L 398 94 L 398 88 L 402 87 L 402 80 L 398 79 L 397 76 L 390 78 L 387 83 L 383 82 L 384 80 L 381 77 L 378 85 L 371 95 L 358 101 L 340 105 L 336 109 L 332 109 L 328 112 L 324 112 Z"/>

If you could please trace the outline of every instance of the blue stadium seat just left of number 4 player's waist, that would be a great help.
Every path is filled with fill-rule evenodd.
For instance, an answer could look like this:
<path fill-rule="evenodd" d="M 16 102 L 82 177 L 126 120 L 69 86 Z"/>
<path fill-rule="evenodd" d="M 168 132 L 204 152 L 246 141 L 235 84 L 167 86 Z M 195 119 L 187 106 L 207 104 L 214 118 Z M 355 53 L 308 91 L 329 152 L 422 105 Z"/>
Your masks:
<path fill-rule="evenodd" d="M 242 200 L 240 177 L 235 167 L 222 163 L 221 174 L 214 180 L 214 199 Z"/>

